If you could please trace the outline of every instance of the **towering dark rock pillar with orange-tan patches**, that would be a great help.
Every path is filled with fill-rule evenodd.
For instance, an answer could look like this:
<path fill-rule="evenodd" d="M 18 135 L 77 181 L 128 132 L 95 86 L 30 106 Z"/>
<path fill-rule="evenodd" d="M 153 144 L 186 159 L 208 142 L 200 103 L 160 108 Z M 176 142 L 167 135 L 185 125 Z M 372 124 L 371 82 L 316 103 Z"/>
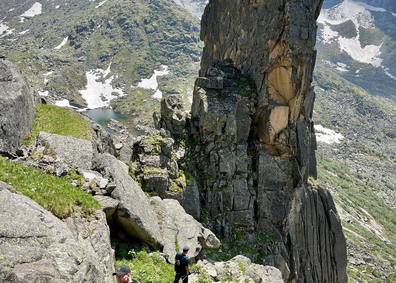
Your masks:
<path fill-rule="evenodd" d="M 321 6 L 320 0 L 210 1 L 201 22 L 204 78 L 196 81 L 192 121 L 210 161 L 198 163 L 210 175 L 203 181 L 206 206 L 223 219 L 222 231 L 231 224 L 279 239 L 281 257 L 272 262 L 286 282 L 347 282 L 333 200 L 308 183 L 308 176 L 316 178 L 312 71 Z M 228 57 L 253 78 L 257 94 L 244 95 L 240 76 L 227 69 L 232 62 L 218 61 Z"/>

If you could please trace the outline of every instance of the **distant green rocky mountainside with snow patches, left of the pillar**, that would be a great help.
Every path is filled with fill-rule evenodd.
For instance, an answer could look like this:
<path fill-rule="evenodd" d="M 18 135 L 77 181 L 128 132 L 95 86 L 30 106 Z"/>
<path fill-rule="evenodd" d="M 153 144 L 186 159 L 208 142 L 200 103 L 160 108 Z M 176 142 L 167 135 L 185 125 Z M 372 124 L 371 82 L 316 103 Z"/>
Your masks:
<path fill-rule="evenodd" d="M 37 9 L 26 16 L 32 8 Z M 27 1 L 0 9 L 6 15 L 0 23 L 0 52 L 19 63 L 47 99 L 96 108 L 108 106 L 120 94 L 148 99 L 157 93 L 159 97 L 161 89 L 183 92 L 188 103 L 187 91 L 192 92 L 198 71 L 195 62 L 202 50 L 199 20 L 173 1 Z M 169 69 L 159 86 L 131 87 L 163 69 L 161 65 Z M 172 90 L 174 86 L 178 88 Z M 84 88 L 107 90 L 103 95 L 98 90 L 86 103 L 79 92 Z"/>

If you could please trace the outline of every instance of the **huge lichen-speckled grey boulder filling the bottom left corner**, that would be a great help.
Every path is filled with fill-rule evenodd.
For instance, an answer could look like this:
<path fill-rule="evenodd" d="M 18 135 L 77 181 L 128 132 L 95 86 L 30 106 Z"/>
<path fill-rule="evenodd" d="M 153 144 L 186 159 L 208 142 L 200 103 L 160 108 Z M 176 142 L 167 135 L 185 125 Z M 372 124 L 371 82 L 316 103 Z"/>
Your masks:
<path fill-rule="evenodd" d="M 1 282 L 114 282 L 103 211 L 90 220 L 74 214 L 62 221 L 0 182 L 0 223 Z"/>

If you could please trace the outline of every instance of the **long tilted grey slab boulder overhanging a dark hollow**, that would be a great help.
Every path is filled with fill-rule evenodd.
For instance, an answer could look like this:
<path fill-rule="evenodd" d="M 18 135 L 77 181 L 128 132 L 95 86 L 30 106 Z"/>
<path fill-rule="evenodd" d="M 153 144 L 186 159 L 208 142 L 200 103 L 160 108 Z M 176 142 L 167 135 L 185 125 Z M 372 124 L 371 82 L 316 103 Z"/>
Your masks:
<path fill-rule="evenodd" d="M 115 186 L 111 197 L 119 202 L 113 214 L 118 225 L 150 247 L 162 248 L 164 243 L 156 214 L 141 187 L 129 176 L 128 166 L 105 153 L 96 156 L 93 169 L 101 172 Z"/>

